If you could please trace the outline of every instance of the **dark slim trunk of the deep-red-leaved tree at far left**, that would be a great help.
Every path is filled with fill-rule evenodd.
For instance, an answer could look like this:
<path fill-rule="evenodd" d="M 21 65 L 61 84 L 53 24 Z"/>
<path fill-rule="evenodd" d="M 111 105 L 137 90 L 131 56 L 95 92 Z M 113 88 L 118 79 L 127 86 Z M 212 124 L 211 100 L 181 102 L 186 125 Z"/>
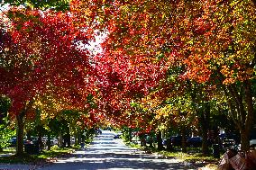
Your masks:
<path fill-rule="evenodd" d="M 23 133 L 24 133 L 24 118 L 25 112 L 21 112 L 20 114 L 16 115 L 17 120 L 17 143 L 16 143 L 16 156 L 23 157 L 24 150 L 23 150 Z"/>

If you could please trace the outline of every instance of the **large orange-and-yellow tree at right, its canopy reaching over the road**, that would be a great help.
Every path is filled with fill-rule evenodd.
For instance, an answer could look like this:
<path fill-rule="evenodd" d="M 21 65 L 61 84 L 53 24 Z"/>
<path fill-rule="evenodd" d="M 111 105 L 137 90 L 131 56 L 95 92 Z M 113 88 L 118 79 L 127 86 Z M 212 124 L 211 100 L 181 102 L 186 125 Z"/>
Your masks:
<path fill-rule="evenodd" d="M 241 132 L 242 149 L 249 148 L 254 117 L 254 1 L 80 0 L 71 1 L 70 7 L 78 22 L 89 18 L 87 22 L 107 33 L 105 52 L 118 51 L 129 61 L 141 61 L 135 66 L 178 64 L 187 79 L 221 85 Z"/>

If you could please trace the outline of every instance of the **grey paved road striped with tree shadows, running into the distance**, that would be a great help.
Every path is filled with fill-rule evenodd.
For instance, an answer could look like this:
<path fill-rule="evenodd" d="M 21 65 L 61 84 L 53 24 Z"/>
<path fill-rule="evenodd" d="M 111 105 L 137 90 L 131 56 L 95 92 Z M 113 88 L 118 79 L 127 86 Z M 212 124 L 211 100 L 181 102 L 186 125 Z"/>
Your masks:
<path fill-rule="evenodd" d="M 16 166 L 17 169 L 39 170 L 132 170 L 132 169 L 197 169 L 189 167 L 178 159 L 145 154 L 126 147 L 121 139 L 114 139 L 114 132 L 103 131 L 85 150 L 77 151 L 69 157 L 59 158 L 50 166 Z M 191 165 L 190 165 L 191 166 Z M 11 169 L 0 165 L 0 170 Z"/>

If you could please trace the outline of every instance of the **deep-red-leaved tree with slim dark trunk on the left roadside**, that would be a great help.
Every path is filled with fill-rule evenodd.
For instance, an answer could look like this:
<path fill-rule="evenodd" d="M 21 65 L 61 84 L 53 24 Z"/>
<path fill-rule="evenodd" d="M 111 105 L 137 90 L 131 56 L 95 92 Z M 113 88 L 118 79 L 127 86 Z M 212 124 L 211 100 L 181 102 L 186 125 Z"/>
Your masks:
<path fill-rule="evenodd" d="M 5 13 L 1 44 L 1 93 L 10 97 L 17 120 L 17 155 L 23 154 L 23 119 L 36 96 L 52 90 L 67 103 L 82 103 L 80 88 L 90 71 L 86 29 L 76 30 L 69 13 L 12 8 Z M 65 89 L 65 91 L 63 90 Z M 65 92 L 61 94 L 61 92 Z"/>

